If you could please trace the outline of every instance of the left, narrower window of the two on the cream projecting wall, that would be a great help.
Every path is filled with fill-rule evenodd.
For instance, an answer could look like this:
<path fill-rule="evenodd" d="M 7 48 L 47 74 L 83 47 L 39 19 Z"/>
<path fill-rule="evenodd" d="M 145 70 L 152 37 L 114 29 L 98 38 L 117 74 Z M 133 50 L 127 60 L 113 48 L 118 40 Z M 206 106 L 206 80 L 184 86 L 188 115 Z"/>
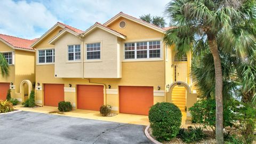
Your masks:
<path fill-rule="evenodd" d="M 68 60 L 81 60 L 81 46 L 78 45 L 68 45 Z"/>

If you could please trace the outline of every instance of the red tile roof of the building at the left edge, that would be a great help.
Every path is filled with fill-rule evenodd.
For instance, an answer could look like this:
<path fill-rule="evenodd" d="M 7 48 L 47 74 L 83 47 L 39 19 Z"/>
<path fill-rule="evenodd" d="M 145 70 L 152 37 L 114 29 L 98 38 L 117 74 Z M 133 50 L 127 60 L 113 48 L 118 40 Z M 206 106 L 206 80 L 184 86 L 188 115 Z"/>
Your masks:
<path fill-rule="evenodd" d="M 35 42 L 34 39 L 29 40 L 29 39 L 3 35 L 3 34 L 0 34 L 0 38 L 3 39 L 3 41 L 5 41 L 6 43 L 9 43 L 10 45 L 12 45 L 13 47 L 18 47 L 18 48 L 27 49 L 27 50 L 34 50 L 32 47 L 30 47 L 30 45 Z"/>

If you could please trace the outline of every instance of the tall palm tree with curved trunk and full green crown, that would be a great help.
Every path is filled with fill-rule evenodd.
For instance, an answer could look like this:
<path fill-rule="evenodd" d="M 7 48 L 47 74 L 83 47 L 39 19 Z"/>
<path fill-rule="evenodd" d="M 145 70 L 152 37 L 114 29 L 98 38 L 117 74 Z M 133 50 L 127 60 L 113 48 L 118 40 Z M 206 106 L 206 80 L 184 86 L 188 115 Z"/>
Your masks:
<path fill-rule="evenodd" d="M 234 51 L 236 57 L 245 58 L 244 46 L 253 45 L 255 37 L 243 26 L 253 25 L 256 15 L 254 0 L 173 0 L 166 13 L 176 29 L 166 32 L 167 45 L 175 44 L 178 53 L 191 51 L 198 42 L 206 42 L 213 56 L 215 73 L 217 143 L 223 143 L 223 75 L 222 51 Z M 235 31 L 238 30 L 238 31 Z M 238 41 L 239 39 L 239 41 Z"/>

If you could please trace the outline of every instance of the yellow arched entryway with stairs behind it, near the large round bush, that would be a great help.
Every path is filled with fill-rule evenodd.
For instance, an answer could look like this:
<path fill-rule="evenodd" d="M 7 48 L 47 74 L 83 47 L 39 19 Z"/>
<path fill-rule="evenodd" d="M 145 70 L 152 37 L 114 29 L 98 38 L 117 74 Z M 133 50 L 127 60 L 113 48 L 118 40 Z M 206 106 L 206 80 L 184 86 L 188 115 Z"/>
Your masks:
<path fill-rule="evenodd" d="M 182 81 L 174 82 L 170 85 L 169 93 L 170 96 L 167 96 L 167 102 L 172 102 L 181 111 L 185 111 L 187 107 L 187 95 L 191 93 L 189 85 Z"/>

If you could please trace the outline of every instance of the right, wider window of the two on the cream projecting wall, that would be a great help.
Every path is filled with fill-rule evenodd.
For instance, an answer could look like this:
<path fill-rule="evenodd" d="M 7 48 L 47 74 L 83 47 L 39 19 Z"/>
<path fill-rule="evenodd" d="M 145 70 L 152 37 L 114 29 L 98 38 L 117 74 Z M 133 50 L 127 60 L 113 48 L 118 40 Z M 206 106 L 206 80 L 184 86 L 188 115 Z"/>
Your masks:
<path fill-rule="evenodd" d="M 100 59 L 100 43 L 86 44 L 87 60 Z"/>

